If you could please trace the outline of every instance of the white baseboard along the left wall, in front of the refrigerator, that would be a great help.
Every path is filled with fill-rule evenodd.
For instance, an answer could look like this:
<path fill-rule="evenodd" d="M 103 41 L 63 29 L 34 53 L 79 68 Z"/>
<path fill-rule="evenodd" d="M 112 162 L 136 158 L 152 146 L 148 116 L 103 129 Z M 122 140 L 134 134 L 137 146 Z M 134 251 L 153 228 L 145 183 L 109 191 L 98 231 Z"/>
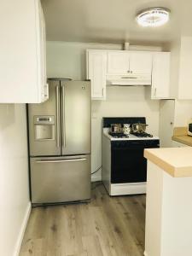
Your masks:
<path fill-rule="evenodd" d="M 23 236 L 25 234 L 26 225 L 28 223 L 28 219 L 29 219 L 31 210 L 32 210 L 32 204 L 31 204 L 31 202 L 29 202 L 28 206 L 26 207 L 26 213 L 25 213 L 25 216 L 23 218 L 23 222 L 22 222 L 21 227 L 20 227 L 20 233 L 19 233 L 19 236 L 18 236 L 18 239 L 17 239 L 17 242 L 16 242 L 14 256 L 19 256 L 19 254 L 20 254 L 20 247 L 21 247 L 21 243 L 22 243 L 22 240 L 23 240 Z"/>

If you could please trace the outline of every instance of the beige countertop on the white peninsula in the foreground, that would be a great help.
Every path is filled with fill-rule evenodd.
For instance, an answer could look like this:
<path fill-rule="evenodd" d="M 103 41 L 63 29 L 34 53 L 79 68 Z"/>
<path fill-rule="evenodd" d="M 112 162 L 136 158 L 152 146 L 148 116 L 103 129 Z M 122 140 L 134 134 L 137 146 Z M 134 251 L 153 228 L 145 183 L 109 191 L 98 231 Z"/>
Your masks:
<path fill-rule="evenodd" d="M 172 177 L 192 177 L 192 148 L 148 148 L 144 157 Z"/>

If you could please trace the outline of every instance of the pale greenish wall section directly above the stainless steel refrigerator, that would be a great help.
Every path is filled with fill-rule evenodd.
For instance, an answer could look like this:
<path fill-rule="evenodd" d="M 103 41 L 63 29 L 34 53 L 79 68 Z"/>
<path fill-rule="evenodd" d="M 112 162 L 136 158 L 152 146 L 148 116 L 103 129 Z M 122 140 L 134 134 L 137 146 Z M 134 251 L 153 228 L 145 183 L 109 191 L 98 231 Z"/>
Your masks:
<path fill-rule="evenodd" d="M 47 42 L 48 78 L 85 79 L 85 49 L 121 49 L 121 45 Z"/>

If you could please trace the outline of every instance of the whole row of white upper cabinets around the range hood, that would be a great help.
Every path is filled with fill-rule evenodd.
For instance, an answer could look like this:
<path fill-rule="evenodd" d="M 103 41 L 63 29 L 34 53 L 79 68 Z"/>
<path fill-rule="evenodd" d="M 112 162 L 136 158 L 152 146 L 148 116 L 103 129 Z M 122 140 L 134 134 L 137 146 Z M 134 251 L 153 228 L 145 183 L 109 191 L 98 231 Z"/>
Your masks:
<path fill-rule="evenodd" d="M 87 50 L 87 79 L 91 80 L 92 99 L 106 99 L 107 77 L 133 79 L 152 77 L 151 98 L 171 98 L 170 52 Z M 119 78 L 118 78 L 119 79 Z M 136 84 L 136 83 L 135 83 Z M 134 85 L 134 84 L 131 84 Z"/>

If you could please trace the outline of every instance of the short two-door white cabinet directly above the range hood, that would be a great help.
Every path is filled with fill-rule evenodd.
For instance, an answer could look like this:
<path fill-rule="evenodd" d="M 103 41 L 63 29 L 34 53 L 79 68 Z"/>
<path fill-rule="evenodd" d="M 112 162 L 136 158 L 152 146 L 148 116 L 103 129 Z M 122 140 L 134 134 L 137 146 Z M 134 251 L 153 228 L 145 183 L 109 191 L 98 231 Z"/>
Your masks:
<path fill-rule="evenodd" d="M 151 74 L 151 71 L 150 52 L 124 50 L 108 52 L 108 74 Z"/>

